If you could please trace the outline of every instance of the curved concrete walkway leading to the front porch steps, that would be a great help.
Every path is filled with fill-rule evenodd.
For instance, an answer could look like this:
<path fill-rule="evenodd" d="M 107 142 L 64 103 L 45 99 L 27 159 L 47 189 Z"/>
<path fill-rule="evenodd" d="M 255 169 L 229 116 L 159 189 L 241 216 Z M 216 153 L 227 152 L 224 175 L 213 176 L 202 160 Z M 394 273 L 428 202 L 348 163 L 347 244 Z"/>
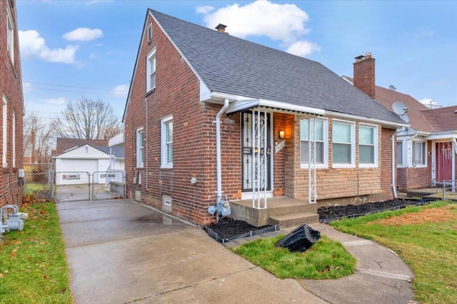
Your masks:
<path fill-rule="evenodd" d="M 338 280 L 301 280 L 303 288 L 335 304 L 415 303 L 411 285 L 413 273 L 392 250 L 371 240 L 341 233 L 328 225 L 310 226 L 344 245 L 357 260 L 356 273 Z M 234 248 L 255 238 L 287 234 L 291 230 L 238 239 L 226 245 Z"/>

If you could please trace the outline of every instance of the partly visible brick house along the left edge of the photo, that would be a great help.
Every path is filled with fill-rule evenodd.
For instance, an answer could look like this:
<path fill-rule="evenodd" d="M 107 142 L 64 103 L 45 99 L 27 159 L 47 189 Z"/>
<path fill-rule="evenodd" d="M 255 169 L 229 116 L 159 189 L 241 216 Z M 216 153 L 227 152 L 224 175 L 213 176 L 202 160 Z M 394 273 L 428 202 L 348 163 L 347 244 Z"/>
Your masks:
<path fill-rule="evenodd" d="M 0 1 L 0 151 L 2 171 L 0 175 L 0 206 L 20 206 L 23 196 L 23 178 L 19 171 L 23 165 L 21 59 L 16 18 L 16 1 Z"/>

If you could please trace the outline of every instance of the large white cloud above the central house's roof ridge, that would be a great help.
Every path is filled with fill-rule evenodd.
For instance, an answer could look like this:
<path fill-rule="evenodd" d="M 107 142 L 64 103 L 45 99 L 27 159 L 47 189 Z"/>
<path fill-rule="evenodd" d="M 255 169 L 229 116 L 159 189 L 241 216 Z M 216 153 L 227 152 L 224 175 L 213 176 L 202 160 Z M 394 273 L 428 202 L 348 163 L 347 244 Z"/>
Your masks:
<path fill-rule="evenodd" d="M 244 6 L 231 4 L 216 11 L 200 6 L 197 12 L 204 14 L 204 22 L 211 29 L 221 23 L 233 36 L 267 36 L 282 41 L 284 46 L 290 46 L 309 31 L 304 25 L 309 20 L 308 14 L 295 4 L 254 1 Z"/>

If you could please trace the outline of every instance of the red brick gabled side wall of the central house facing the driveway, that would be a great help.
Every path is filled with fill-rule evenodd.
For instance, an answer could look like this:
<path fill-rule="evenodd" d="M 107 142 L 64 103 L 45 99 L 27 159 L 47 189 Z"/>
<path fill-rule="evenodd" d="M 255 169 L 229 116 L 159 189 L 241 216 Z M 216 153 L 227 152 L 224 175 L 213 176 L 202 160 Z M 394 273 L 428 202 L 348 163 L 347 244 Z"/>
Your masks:
<path fill-rule="evenodd" d="M 154 47 L 156 90 L 146 94 L 146 56 Z M 201 103 L 199 93 L 199 79 L 153 24 L 152 43 L 144 40 L 140 49 L 125 118 L 127 195 L 134 198 L 135 190 L 141 190 L 141 201 L 159 209 L 162 194 L 170 195 L 174 215 L 204 225 L 216 218 L 207 208 L 216 202 L 214 121 L 221 105 Z M 173 168 L 161 168 L 161 118 L 169 115 L 173 115 L 174 163 Z M 221 117 L 222 191 L 232 200 L 241 198 L 239 117 Z M 144 168 L 136 168 L 139 127 L 144 128 Z M 141 172 L 141 185 L 133 183 L 136 172 Z M 191 178 L 197 183 L 192 184 Z"/>

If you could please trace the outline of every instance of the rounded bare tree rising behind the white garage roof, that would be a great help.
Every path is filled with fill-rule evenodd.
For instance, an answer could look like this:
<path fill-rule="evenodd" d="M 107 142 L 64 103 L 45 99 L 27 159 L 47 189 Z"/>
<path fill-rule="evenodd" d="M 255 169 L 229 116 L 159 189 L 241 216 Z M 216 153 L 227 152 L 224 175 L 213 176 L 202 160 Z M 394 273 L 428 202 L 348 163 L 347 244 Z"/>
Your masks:
<path fill-rule="evenodd" d="M 121 133 L 122 125 L 109 103 L 81 97 L 71 101 L 57 120 L 57 133 L 64 138 L 101 139 Z"/>

